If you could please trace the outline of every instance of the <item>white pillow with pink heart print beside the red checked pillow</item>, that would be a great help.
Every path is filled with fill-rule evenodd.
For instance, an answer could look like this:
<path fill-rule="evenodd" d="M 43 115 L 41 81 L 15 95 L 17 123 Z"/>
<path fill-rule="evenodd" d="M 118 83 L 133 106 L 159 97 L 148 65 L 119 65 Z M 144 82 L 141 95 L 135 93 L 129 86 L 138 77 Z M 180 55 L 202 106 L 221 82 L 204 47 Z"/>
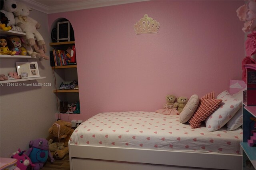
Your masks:
<path fill-rule="evenodd" d="M 236 114 L 242 104 L 241 100 L 232 97 L 226 90 L 216 98 L 222 99 L 222 103 L 220 103 L 220 107 L 205 121 L 206 129 L 209 132 L 223 127 Z"/>

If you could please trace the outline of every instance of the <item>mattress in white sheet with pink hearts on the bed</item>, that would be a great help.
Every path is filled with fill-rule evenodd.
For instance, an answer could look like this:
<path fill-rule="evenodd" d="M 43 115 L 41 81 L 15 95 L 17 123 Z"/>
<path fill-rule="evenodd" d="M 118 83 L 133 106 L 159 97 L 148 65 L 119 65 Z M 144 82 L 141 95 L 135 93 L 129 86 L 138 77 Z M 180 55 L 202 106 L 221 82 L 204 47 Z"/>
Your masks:
<path fill-rule="evenodd" d="M 241 154 L 242 128 L 222 127 L 209 132 L 205 125 L 192 129 L 178 115 L 131 111 L 99 113 L 80 124 L 70 144 L 181 152 Z"/>

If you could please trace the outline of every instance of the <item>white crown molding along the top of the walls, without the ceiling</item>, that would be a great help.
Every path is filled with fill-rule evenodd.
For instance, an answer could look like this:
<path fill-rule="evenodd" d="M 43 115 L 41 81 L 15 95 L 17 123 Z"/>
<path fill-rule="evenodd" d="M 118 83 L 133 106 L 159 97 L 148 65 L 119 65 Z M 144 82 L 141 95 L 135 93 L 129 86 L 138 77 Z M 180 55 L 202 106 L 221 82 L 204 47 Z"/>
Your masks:
<path fill-rule="evenodd" d="M 147 0 L 85 0 L 82 2 L 76 2 L 73 4 L 63 4 L 58 6 L 46 6 L 33 0 L 24 0 L 23 2 L 30 8 L 33 8 L 40 12 L 44 12 L 46 14 L 53 14 L 58 12 L 68 12 L 68 11 L 128 4 L 128 3 L 142 2 L 142 1 L 147 1 Z"/>

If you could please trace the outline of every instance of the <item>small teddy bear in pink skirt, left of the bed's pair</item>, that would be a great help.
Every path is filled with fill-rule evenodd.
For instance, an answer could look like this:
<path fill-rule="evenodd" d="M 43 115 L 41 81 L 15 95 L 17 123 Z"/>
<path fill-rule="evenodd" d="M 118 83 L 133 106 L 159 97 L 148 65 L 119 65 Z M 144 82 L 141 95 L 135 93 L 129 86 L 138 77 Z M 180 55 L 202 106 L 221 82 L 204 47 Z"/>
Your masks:
<path fill-rule="evenodd" d="M 175 95 L 167 95 L 166 96 L 166 104 L 164 105 L 164 109 L 158 109 L 156 113 L 160 113 L 163 115 L 177 115 L 178 111 L 173 106 L 176 102 L 176 96 Z"/>

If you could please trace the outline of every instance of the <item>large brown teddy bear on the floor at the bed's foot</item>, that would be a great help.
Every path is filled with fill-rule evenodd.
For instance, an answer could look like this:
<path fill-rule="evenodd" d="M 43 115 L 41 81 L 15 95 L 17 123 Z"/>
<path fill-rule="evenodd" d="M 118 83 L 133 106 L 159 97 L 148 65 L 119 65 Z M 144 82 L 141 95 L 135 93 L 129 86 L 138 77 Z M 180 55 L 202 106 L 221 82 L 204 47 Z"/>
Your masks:
<path fill-rule="evenodd" d="M 68 140 L 74 129 L 71 128 L 70 122 L 66 121 L 56 121 L 52 127 L 49 128 L 49 136 L 46 138 L 50 142 L 63 143 L 64 149 L 59 149 L 52 152 L 55 159 L 63 159 L 66 154 L 68 154 Z"/>

